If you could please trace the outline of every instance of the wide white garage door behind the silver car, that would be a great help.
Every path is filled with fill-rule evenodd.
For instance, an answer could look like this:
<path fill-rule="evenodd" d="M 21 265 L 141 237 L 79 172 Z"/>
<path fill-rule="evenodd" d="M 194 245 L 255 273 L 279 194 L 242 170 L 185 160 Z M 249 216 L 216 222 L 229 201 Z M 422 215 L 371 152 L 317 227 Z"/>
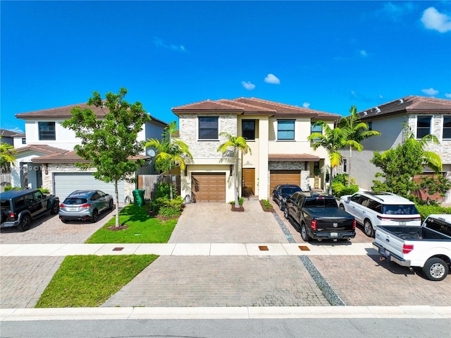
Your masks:
<path fill-rule="evenodd" d="M 101 190 L 104 193 L 109 193 L 114 197 L 114 183 L 105 183 L 94 179 L 91 173 L 54 173 L 54 191 L 59 200 L 63 200 L 75 190 Z M 124 182 L 118 183 L 119 201 L 123 201 Z M 116 198 L 115 198 L 116 199 Z M 116 202 L 116 201 L 115 201 Z"/>

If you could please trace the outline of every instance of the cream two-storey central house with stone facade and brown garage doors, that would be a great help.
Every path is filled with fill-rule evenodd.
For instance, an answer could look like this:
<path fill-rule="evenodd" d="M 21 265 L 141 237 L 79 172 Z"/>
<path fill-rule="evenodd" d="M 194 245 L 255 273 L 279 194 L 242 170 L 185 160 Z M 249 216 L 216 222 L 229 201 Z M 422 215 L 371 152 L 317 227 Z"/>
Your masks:
<path fill-rule="evenodd" d="M 225 140 L 221 132 L 242 136 L 252 155 L 240 159 L 240 195 L 271 198 L 274 186 L 293 183 L 302 189 L 323 188 L 314 176 L 328 164 L 326 150 L 313 150 L 307 137 L 321 132 L 313 126 L 318 120 L 333 128 L 338 114 L 257 98 L 219 99 L 187 104 L 172 109 L 178 116 L 180 140 L 190 149 L 193 159 L 181 172 L 181 195 L 196 201 L 234 200 L 234 160 L 217 149 Z"/>

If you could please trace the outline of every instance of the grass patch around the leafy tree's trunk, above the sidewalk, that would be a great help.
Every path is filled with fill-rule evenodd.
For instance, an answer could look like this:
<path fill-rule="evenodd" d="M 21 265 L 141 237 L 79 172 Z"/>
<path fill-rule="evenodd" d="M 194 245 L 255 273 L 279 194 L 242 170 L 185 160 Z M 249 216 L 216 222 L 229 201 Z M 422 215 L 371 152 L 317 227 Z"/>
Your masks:
<path fill-rule="evenodd" d="M 92 234 L 85 243 L 167 243 L 177 224 L 177 219 L 166 222 L 149 216 L 147 207 L 127 205 L 119 212 L 119 224 L 128 229 L 111 231 L 116 217 L 106 222 L 104 227 Z"/>

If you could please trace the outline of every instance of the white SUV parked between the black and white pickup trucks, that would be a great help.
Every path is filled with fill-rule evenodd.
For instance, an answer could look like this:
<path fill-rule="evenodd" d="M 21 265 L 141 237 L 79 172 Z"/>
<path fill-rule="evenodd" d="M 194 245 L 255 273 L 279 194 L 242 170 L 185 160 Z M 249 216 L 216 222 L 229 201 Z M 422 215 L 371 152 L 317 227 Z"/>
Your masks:
<path fill-rule="evenodd" d="M 378 225 L 421 226 L 415 204 L 394 193 L 359 191 L 354 195 L 343 195 L 339 205 L 364 226 L 366 236 L 373 237 Z"/>

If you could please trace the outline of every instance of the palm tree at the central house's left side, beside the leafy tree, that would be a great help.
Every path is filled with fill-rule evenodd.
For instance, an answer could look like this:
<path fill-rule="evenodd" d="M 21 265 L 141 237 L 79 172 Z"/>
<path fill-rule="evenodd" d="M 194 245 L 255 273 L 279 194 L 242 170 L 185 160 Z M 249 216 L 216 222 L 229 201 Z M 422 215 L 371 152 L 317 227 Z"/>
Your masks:
<path fill-rule="evenodd" d="M 154 148 L 156 152 L 155 169 L 163 172 L 168 171 L 171 182 L 172 169 L 180 167 L 180 169 L 185 170 L 189 159 L 192 159 L 188 145 L 175 136 L 177 133 L 177 123 L 172 121 L 164 128 L 161 142 L 156 138 L 151 138 L 144 145 L 144 147 Z M 172 183 L 169 188 L 169 198 L 173 199 Z"/>

